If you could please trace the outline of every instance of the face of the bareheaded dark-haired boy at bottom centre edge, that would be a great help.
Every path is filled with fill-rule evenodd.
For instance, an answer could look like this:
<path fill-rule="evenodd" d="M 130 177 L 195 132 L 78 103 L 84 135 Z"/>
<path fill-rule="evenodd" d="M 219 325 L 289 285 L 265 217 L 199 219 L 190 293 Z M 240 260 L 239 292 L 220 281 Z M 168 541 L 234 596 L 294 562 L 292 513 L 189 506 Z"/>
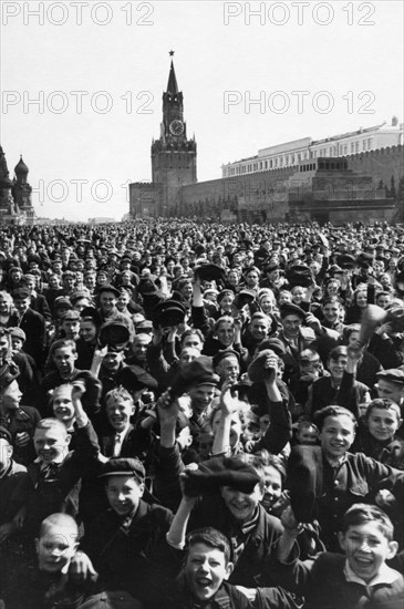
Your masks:
<path fill-rule="evenodd" d="M 213 598 L 231 572 L 232 565 L 226 565 L 225 554 L 199 543 L 190 546 L 185 564 L 185 577 L 194 597 L 200 601 Z"/>

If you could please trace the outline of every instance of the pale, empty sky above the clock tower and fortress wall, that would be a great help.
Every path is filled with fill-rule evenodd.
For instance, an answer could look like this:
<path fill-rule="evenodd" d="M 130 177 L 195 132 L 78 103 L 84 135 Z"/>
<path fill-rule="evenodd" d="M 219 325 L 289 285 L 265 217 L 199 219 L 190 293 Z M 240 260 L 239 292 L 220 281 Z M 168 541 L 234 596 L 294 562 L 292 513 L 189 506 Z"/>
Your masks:
<path fill-rule="evenodd" d="M 4 0 L 1 18 L 1 144 L 10 174 L 22 153 L 39 216 L 128 211 L 170 50 L 199 180 L 273 144 L 403 121 L 398 0 Z"/>

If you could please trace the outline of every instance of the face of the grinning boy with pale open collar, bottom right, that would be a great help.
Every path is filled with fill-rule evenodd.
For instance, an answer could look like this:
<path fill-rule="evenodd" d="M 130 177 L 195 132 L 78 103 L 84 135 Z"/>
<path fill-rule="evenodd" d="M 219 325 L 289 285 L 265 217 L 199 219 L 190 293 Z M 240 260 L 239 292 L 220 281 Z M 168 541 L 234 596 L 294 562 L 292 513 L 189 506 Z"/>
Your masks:
<path fill-rule="evenodd" d="M 340 544 L 351 569 L 364 581 L 371 581 L 397 549 L 396 541 L 389 541 L 376 522 L 351 525 L 340 534 Z"/>

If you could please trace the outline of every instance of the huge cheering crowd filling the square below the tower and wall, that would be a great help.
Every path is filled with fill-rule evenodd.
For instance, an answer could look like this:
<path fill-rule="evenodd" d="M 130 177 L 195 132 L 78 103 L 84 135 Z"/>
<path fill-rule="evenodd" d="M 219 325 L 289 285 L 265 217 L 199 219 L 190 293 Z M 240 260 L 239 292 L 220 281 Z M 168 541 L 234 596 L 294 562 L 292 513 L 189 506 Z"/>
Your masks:
<path fill-rule="evenodd" d="M 0 607 L 402 609 L 404 226 L 0 229 Z"/>

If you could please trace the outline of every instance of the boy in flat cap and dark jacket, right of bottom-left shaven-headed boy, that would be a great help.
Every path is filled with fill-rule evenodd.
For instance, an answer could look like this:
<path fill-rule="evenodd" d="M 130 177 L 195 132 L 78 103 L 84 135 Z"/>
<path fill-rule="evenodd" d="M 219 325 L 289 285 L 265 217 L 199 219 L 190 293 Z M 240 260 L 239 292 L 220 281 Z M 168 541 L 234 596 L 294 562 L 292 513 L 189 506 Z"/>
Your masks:
<path fill-rule="evenodd" d="M 110 508 L 89 525 L 81 544 L 100 574 L 100 586 L 127 590 L 147 608 L 163 607 L 158 582 L 165 567 L 159 549 L 165 547 L 173 514 L 143 500 L 145 469 L 137 458 L 111 458 L 100 477 Z"/>

